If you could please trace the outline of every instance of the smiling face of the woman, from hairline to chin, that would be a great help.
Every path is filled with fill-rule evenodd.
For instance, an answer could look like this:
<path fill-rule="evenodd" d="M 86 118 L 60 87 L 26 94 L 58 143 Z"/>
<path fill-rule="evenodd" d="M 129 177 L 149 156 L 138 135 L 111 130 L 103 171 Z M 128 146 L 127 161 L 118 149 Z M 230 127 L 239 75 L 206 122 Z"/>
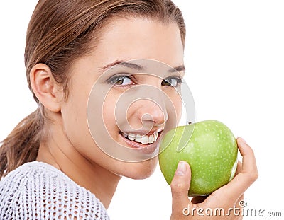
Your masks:
<path fill-rule="evenodd" d="M 181 99 L 177 92 L 183 71 L 180 30 L 175 23 L 163 24 L 146 18 L 116 18 L 104 28 L 100 39 L 91 54 L 72 64 L 70 94 L 61 109 L 65 135 L 70 141 L 70 147 L 75 148 L 91 163 L 117 175 L 135 179 L 147 178 L 155 169 L 157 156 L 143 160 L 144 154 L 149 154 L 143 149 L 150 145 L 152 149 L 157 149 L 163 129 L 168 123 L 170 127 L 177 125 L 181 115 Z M 164 63 L 161 64 L 162 69 L 165 66 L 173 66 L 180 71 L 172 69 L 167 73 L 153 73 L 155 63 Z M 149 68 L 152 68 L 151 73 L 148 73 Z M 97 91 L 108 88 L 108 92 L 89 96 L 94 84 Z M 131 100 L 127 108 L 118 109 L 124 115 L 118 119 L 116 107 L 121 95 L 142 85 L 146 97 Z M 153 91 L 165 94 L 175 112 L 164 106 L 163 95 L 157 96 L 157 102 L 147 98 L 145 86 L 151 86 Z M 153 91 L 152 93 L 155 93 Z M 94 99 L 96 95 L 104 96 L 103 103 Z M 89 102 L 94 106 L 93 112 L 91 108 L 91 114 L 87 113 Z M 102 118 L 104 126 L 96 123 L 96 120 L 89 120 L 92 114 Z M 88 122 L 92 125 L 88 125 Z M 101 135 L 104 130 L 107 131 L 108 137 Z M 104 146 L 93 139 L 94 136 L 98 137 L 94 134 L 103 137 Z M 111 145 L 113 142 L 126 149 L 142 149 L 139 153 L 141 160 L 131 163 L 105 154 L 101 150 L 104 147 L 118 151 L 119 148 L 116 149 L 115 144 Z"/>

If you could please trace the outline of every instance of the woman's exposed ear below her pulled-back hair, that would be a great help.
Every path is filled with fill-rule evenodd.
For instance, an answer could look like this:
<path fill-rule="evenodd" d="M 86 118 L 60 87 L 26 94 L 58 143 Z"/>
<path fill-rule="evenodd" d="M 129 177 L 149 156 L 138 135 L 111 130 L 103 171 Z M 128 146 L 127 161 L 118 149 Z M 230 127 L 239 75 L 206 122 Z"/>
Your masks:
<path fill-rule="evenodd" d="M 53 78 L 50 68 L 45 64 L 36 64 L 30 72 L 31 88 L 40 103 L 52 112 L 61 110 L 63 89 Z"/>

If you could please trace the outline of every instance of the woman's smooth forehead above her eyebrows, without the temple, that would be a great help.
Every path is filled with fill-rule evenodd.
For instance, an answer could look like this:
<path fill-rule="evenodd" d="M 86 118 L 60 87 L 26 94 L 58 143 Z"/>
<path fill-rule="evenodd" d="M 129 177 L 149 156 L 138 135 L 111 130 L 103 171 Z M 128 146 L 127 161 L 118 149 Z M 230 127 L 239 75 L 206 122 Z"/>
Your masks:
<path fill-rule="evenodd" d="M 115 60 L 155 59 L 170 66 L 183 60 L 183 45 L 176 23 L 149 18 L 111 18 L 103 28 L 96 53 Z"/>

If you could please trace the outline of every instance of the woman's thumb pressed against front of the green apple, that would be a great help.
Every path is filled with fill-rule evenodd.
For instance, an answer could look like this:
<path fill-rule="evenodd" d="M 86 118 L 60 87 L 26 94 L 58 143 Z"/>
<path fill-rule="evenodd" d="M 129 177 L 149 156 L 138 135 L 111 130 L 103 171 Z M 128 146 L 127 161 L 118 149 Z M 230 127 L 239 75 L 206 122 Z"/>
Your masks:
<path fill-rule="evenodd" d="M 182 209 L 190 203 L 190 199 L 188 199 L 190 180 L 191 170 L 189 164 L 185 161 L 180 161 L 172 183 L 170 183 L 173 197 L 173 212 L 182 213 Z"/>

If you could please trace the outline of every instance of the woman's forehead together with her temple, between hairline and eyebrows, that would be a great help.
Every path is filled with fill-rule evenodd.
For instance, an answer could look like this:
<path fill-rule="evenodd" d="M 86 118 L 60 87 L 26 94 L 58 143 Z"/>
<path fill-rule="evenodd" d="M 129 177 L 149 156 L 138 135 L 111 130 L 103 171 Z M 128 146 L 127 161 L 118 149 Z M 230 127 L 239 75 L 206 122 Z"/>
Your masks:
<path fill-rule="evenodd" d="M 72 79 L 96 81 L 104 73 L 102 70 L 114 66 L 116 61 L 148 59 L 161 62 L 167 68 L 183 66 L 183 45 L 175 23 L 147 18 L 111 18 L 99 38 L 95 38 L 94 50 L 72 63 Z"/>

